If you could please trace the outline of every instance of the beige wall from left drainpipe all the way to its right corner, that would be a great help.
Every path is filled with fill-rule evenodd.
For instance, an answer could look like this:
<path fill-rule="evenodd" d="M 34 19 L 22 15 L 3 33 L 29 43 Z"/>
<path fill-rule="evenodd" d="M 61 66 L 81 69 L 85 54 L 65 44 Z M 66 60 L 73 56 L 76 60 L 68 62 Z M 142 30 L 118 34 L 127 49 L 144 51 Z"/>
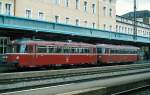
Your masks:
<path fill-rule="evenodd" d="M 4 0 L 3 0 L 4 1 Z M 79 0 L 76 8 L 76 0 L 15 0 L 15 16 L 27 17 L 26 10 L 31 11 L 31 19 L 39 19 L 58 23 L 78 25 L 82 27 L 104 29 L 115 31 L 116 0 Z M 85 2 L 86 11 L 85 11 Z M 68 6 L 66 5 L 68 4 Z M 93 8 L 94 5 L 94 8 Z M 104 16 L 103 7 L 106 7 Z M 112 9 L 111 16 L 109 15 Z M 94 13 L 93 13 L 94 10 Z M 42 13 L 42 19 L 39 17 Z M 27 17 L 28 18 L 28 17 Z M 111 29 L 110 29 L 111 26 Z"/>

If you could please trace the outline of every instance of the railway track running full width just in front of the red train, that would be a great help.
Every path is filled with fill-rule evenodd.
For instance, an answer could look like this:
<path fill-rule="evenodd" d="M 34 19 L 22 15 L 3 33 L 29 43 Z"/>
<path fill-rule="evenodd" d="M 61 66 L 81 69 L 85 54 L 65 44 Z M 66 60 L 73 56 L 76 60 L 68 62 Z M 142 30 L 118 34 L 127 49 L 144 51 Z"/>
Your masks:
<path fill-rule="evenodd" d="M 0 93 L 100 80 L 144 72 L 150 72 L 150 64 L 4 73 L 0 74 Z"/>

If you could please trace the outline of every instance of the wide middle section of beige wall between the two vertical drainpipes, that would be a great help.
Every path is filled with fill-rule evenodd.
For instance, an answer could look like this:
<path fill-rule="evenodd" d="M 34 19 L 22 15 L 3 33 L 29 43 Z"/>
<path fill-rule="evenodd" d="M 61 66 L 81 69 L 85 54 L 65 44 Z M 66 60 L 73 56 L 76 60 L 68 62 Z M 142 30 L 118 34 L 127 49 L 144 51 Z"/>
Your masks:
<path fill-rule="evenodd" d="M 84 11 L 84 1 L 79 0 L 77 9 L 76 0 L 69 0 L 68 6 L 65 0 L 59 0 L 58 4 L 54 0 L 16 0 L 15 15 L 26 17 L 26 10 L 31 10 L 32 19 L 39 19 L 38 12 L 43 12 L 46 21 L 55 22 L 55 16 L 58 16 L 59 23 L 76 25 L 78 20 L 80 26 L 93 27 L 94 24 L 98 28 L 97 0 L 87 0 L 87 11 Z M 92 4 L 95 4 L 95 13 L 92 13 Z"/>

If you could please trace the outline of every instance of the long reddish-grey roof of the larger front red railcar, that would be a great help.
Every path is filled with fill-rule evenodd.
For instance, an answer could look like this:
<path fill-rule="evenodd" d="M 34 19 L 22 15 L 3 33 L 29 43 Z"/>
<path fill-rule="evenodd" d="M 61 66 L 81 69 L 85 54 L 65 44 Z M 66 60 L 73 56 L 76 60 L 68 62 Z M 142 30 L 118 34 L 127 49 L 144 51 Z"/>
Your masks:
<path fill-rule="evenodd" d="M 14 44 L 27 44 L 27 45 L 42 45 L 42 46 L 73 46 L 73 47 L 96 47 L 96 45 L 77 42 L 58 42 L 58 41 L 14 41 Z"/>

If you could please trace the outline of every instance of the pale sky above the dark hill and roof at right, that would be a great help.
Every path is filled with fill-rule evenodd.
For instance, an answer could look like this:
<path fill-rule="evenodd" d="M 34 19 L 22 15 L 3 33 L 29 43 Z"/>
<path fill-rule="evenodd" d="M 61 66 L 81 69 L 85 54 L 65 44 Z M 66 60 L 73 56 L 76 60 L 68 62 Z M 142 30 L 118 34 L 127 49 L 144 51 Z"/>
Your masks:
<path fill-rule="evenodd" d="M 134 0 L 117 0 L 117 15 L 123 15 L 133 11 L 133 1 Z M 150 0 L 137 0 L 137 10 L 150 11 Z"/>

